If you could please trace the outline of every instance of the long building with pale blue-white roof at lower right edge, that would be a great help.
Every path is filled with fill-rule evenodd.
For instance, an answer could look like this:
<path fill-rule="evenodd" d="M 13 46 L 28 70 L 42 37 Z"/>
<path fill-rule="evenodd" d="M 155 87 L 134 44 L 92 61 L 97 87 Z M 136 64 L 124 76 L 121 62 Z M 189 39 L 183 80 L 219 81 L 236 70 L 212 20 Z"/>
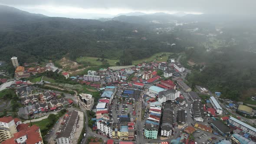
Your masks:
<path fill-rule="evenodd" d="M 243 131 L 246 131 L 248 132 L 249 134 L 253 135 L 254 137 L 256 137 L 256 128 L 253 128 L 252 126 L 236 119 L 236 118 L 233 118 L 230 116 L 229 118 L 229 124 L 236 127 L 236 128 L 239 128 L 239 129 L 242 129 Z"/>

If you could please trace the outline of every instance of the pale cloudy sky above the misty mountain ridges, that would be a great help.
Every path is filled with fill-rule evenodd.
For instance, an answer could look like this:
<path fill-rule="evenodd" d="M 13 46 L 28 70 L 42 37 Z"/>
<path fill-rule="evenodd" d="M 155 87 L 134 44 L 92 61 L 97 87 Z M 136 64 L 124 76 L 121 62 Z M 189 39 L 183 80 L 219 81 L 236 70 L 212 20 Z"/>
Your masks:
<path fill-rule="evenodd" d="M 137 11 L 256 14 L 256 0 L 0 0 L 0 4 L 70 18 L 111 17 Z"/>

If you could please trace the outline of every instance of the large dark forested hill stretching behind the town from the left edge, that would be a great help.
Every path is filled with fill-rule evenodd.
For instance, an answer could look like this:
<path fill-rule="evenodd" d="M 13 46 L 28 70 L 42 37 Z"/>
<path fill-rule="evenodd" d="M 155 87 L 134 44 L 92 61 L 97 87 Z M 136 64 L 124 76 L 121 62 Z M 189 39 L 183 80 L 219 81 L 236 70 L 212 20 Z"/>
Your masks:
<path fill-rule="evenodd" d="M 47 17 L 6 9 L 5 13 L 0 13 L 0 23 L 9 23 L 0 27 L 0 58 L 3 60 L 10 60 L 12 56 L 19 57 L 20 62 L 55 60 L 66 54 L 71 59 L 102 55 L 118 59 L 123 54 L 141 59 L 156 52 L 181 51 L 183 47 L 182 41 L 176 40 L 173 34 L 156 35 L 144 25 Z M 19 16 L 27 18 L 12 20 Z M 134 30 L 138 33 L 132 32 Z M 176 43 L 177 49 L 170 49 L 167 43 Z"/>

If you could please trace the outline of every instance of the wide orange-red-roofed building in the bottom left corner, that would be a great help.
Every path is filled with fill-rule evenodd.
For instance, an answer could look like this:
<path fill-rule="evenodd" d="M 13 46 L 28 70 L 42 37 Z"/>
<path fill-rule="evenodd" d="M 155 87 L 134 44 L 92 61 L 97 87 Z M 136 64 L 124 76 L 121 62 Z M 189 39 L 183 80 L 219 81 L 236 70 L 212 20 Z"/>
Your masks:
<path fill-rule="evenodd" d="M 19 132 L 13 134 L 14 136 L 2 144 L 43 144 L 43 138 L 38 126 L 21 128 Z"/>

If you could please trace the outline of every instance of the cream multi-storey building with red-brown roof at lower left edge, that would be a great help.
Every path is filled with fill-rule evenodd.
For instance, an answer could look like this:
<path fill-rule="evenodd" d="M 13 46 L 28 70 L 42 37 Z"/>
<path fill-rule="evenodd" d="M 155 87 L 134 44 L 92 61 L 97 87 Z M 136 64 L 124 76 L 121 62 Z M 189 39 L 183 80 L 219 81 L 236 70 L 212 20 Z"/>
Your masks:
<path fill-rule="evenodd" d="M 12 138 L 16 132 L 16 124 L 12 117 L 0 118 L 0 143 Z"/>

